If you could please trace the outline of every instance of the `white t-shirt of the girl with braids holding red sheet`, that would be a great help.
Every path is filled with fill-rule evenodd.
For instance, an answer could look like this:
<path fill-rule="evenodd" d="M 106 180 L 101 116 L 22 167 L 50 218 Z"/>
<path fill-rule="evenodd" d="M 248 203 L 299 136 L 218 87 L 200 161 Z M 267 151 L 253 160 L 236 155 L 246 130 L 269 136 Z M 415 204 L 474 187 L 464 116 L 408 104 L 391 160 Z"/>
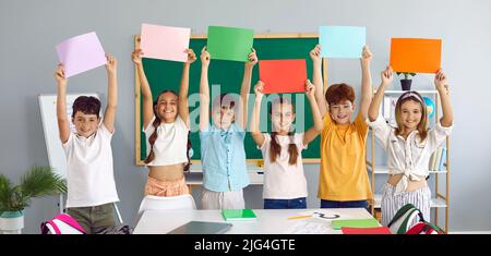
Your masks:
<path fill-rule="evenodd" d="M 271 162 L 270 157 L 271 135 L 265 133 L 264 138 L 264 144 L 260 147 L 264 158 L 263 197 L 265 199 L 307 197 L 307 180 L 302 163 L 302 150 L 307 149 L 307 145 L 303 145 L 303 133 L 296 133 L 292 142 L 290 136 L 276 135 L 282 153 L 276 156 L 275 162 Z M 288 146 L 291 143 L 295 143 L 298 148 L 297 164 L 295 166 L 288 163 L 290 159 Z"/>

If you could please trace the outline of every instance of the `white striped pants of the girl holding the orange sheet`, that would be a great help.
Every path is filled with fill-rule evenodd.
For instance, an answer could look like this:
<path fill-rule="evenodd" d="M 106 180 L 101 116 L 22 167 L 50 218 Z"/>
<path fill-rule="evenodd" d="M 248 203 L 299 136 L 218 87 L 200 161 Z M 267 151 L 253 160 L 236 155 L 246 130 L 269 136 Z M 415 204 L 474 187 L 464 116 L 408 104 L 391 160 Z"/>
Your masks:
<path fill-rule="evenodd" d="M 403 192 L 394 195 L 395 186 L 385 183 L 384 193 L 382 195 L 382 225 L 387 225 L 394 218 L 397 210 L 406 204 L 412 204 L 421 210 L 424 220 L 430 221 L 430 206 L 431 206 L 431 191 L 430 187 L 424 186 L 417 191 Z M 409 223 L 409 227 L 415 224 L 418 218 Z"/>

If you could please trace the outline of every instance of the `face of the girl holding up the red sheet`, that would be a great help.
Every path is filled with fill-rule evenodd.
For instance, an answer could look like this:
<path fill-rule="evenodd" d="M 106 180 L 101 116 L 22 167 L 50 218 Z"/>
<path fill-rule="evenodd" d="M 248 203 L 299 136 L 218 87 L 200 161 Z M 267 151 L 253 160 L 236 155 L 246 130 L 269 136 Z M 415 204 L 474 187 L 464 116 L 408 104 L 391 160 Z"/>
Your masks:
<path fill-rule="evenodd" d="M 273 132 L 277 132 L 279 135 L 288 134 L 295 121 L 294 105 L 290 102 L 274 103 L 271 109 L 271 121 Z"/>

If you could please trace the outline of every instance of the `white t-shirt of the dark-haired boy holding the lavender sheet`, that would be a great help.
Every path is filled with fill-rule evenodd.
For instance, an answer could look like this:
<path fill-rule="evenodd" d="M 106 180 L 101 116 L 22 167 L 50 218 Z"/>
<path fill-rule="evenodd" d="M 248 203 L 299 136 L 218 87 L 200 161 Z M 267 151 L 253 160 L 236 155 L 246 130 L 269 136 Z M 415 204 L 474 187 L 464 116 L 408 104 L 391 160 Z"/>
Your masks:
<path fill-rule="evenodd" d="M 111 137 L 103 123 L 88 138 L 71 133 L 63 144 L 68 164 L 67 207 L 89 207 L 119 200 Z"/>

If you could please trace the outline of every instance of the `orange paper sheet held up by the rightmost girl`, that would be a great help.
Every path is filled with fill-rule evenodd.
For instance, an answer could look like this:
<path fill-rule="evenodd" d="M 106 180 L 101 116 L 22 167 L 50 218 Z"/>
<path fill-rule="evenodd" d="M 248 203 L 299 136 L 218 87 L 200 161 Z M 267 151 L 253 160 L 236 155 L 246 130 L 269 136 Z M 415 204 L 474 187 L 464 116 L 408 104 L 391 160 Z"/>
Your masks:
<path fill-rule="evenodd" d="M 441 39 L 391 39 L 391 66 L 396 72 L 436 73 L 441 54 Z"/>

